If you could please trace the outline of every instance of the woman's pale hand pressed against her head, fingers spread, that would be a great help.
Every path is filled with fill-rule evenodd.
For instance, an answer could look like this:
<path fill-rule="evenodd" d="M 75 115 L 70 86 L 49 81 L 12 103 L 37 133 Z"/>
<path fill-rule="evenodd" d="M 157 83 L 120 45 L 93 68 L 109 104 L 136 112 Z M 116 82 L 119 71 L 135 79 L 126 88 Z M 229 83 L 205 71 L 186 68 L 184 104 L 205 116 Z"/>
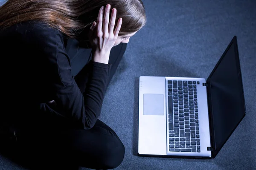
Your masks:
<path fill-rule="evenodd" d="M 113 31 L 116 20 L 116 9 L 112 9 L 111 20 L 109 22 L 110 8 L 111 6 L 108 4 L 103 18 L 104 6 L 102 6 L 99 10 L 97 23 L 94 21 L 90 27 L 88 37 L 95 54 L 110 54 L 122 25 L 122 18 L 119 18 L 116 29 Z"/>

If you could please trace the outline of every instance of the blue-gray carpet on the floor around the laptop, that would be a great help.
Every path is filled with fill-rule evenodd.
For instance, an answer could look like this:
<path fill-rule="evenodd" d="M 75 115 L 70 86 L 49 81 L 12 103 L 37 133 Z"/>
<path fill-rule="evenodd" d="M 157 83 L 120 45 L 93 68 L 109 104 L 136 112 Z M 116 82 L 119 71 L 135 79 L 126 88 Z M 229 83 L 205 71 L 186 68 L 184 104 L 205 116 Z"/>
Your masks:
<path fill-rule="evenodd" d="M 256 1 L 144 0 L 147 25 L 128 43 L 100 119 L 119 135 L 125 158 L 116 170 L 256 169 Z M 209 76 L 237 36 L 247 115 L 215 159 L 138 157 L 140 76 Z M 1 170 L 25 170 L 0 156 Z M 87 170 L 80 168 L 80 170 Z"/>

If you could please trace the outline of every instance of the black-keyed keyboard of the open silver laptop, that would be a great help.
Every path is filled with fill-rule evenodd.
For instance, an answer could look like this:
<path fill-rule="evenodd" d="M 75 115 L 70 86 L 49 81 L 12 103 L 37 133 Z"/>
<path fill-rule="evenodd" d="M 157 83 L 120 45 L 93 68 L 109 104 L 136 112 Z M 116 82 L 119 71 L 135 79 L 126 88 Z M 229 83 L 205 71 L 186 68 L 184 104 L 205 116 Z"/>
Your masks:
<path fill-rule="evenodd" d="M 197 84 L 168 80 L 170 152 L 200 152 Z"/>

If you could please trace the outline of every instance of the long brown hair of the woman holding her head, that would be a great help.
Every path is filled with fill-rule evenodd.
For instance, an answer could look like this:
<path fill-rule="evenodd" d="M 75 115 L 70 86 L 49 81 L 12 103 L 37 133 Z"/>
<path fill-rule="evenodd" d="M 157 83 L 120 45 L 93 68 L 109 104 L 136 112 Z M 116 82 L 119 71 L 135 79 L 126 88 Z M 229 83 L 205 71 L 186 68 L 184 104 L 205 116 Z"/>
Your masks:
<path fill-rule="evenodd" d="M 119 35 L 131 34 L 145 26 L 142 0 L 7 0 L 0 6 L 0 29 L 41 20 L 73 38 L 97 21 L 99 9 L 107 4 L 116 8 L 116 24 L 122 18 Z"/>

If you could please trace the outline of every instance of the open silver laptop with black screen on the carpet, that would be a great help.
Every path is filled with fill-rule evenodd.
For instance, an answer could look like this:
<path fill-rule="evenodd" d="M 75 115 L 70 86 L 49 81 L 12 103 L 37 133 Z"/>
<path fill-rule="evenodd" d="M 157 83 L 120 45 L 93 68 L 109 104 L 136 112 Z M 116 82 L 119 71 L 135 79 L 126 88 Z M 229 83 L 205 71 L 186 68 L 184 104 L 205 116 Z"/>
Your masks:
<path fill-rule="evenodd" d="M 138 155 L 215 158 L 245 114 L 234 36 L 207 79 L 140 76 Z"/>

